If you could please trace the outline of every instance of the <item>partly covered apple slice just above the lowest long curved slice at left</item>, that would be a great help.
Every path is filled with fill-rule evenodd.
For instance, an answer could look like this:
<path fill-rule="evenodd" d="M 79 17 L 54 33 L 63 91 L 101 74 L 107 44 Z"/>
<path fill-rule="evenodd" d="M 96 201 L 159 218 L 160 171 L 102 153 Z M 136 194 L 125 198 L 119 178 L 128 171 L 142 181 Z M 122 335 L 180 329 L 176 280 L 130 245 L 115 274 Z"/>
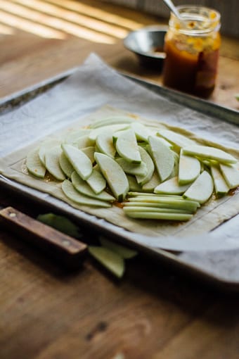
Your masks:
<path fill-rule="evenodd" d="M 101 199 L 101 201 L 115 201 L 115 198 L 113 196 L 103 190 L 100 193 L 98 192 L 98 194 L 96 194 L 96 192 L 93 191 L 91 187 L 89 187 L 89 184 L 86 181 L 82 180 L 81 177 L 79 177 L 77 172 L 72 173 L 71 180 L 75 189 L 77 189 L 79 193 L 84 194 L 85 196 L 92 197 L 93 199 Z"/>

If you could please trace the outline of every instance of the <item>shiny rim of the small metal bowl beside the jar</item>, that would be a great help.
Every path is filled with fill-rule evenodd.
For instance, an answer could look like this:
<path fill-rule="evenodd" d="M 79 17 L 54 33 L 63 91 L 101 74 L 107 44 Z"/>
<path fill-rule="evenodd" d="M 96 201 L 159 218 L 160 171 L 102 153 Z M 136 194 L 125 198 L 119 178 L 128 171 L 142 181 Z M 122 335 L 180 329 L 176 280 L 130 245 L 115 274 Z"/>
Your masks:
<path fill-rule="evenodd" d="M 123 43 L 124 43 L 124 47 L 126 49 L 128 49 L 131 52 L 136 53 L 137 55 L 141 55 L 141 56 L 145 56 L 148 58 L 152 58 L 155 60 L 163 60 L 165 58 L 165 54 L 162 51 L 162 53 L 150 53 L 150 52 L 145 52 L 145 51 L 136 51 L 135 49 L 132 49 L 131 46 L 129 46 L 129 44 L 127 43 L 129 41 L 129 39 L 134 36 L 134 34 L 138 34 L 140 32 L 164 32 L 166 34 L 167 30 L 168 30 L 168 26 L 167 25 L 148 25 L 145 27 L 141 27 L 138 30 L 133 30 L 131 32 L 129 32 L 129 34 L 127 34 L 126 37 L 124 37 Z"/>

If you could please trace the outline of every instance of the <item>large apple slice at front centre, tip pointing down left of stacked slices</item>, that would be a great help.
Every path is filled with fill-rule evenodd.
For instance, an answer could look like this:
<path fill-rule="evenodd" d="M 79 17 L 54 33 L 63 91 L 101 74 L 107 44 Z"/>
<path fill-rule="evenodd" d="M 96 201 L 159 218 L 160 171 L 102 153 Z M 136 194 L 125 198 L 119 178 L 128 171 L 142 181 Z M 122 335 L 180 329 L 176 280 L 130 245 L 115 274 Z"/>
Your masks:
<path fill-rule="evenodd" d="M 129 182 L 124 171 L 113 158 L 110 158 L 103 153 L 96 152 L 95 158 L 112 194 L 117 201 L 123 201 L 129 191 Z"/>

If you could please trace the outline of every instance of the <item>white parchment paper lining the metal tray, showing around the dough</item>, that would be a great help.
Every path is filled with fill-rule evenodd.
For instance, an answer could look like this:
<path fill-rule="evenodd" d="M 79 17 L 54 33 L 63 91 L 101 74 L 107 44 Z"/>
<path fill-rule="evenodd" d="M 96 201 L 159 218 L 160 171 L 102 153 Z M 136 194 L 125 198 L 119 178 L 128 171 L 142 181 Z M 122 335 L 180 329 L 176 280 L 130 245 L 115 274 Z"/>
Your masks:
<path fill-rule="evenodd" d="M 23 146 L 34 144 L 51 132 L 63 129 L 105 105 L 137 113 L 149 120 L 159 120 L 172 126 L 180 126 L 195 132 L 198 137 L 203 137 L 207 141 L 215 141 L 222 146 L 238 148 L 239 128 L 235 125 L 192 111 L 164 96 L 153 94 L 148 89 L 120 76 L 115 70 L 105 65 L 98 56 L 92 54 L 84 65 L 63 83 L 24 106 L 20 106 L 15 111 L 1 116 L 0 157 L 7 156 L 15 150 L 20 151 Z M 49 202 L 56 208 L 62 207 L 62 203 L 51 196 L 41 194 L 39 191 L 26 188 L 16 182 L 9 182 L 3 177 L 2 181 L 36 199 Z M 237 205 L 238 199 L 235 196 L 233 199 L 236 199 L 235 204 Z M 228 210 L 231 210 L 231 207 L 229 206 Z M 226 222 L 225 225 L 220 225 L 214 232 L 181 238 L 171 234 L 164 238 L 164 236 L 149 237 L 145 234 L 128 232 L 126 229 L 109 224 L 94 215 L 79 212 L 67 204 L 64 205 L 64 210 L 79 220 L 143 246 L 176 251 L 219 251 L 239 248 L 238 216 Z M 228 213 L 227 210 L 225 212 Z M 233 215 L 235 212 L 227 214 L 224 220 Z M 186 253 L 183 255 L 185 256 Z M 203 258 L 205 258 L 205 253 Z M 183 260 L 185 259 L 184 257 Z"/>

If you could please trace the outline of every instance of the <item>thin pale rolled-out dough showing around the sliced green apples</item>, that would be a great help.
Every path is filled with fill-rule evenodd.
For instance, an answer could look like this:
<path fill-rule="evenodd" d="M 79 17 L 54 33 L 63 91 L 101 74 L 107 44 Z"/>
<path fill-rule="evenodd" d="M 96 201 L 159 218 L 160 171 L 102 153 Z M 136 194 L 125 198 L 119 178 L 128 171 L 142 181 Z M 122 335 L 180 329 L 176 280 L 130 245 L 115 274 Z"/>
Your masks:
<path fill-rule="evenodd" d="M 82 118 L 79 118 L 76 122 L 72 122 L 72 124 L 68 127 L 64 127 L 60 131 L 53 132 L 49 137 L 44 137 L 41 141 L 34 142 L 34 144 L 30 146 L 24 146 L 22 149 L 11 152 L 8 156 L 0 159 L 0 172 L 5 177 L 11 178 L 16 182 L 20 182 L 29 187 L 39 189 L 44 193 L 50 194 L 65 203 L 69 203 L 70 206 L 77 208 L 78 210 L 82 210 L 85 213 L 89 213 L 91 215 L 96 216 L 97 218 L 101 218 L 106 222 L 111 222 L 114 225 L 118 225 L 120 223 L 120 227 L 129 230 L 130 232 L 134 232 L 136 234 L 146 235 L 150 237 L 156 237 L 157 241 L 160 238 L 164 240 L 163 248 L 176 250 L 178 249 L 174 245 L 168 243 L 167 237 L 192 237 L 200 234 L 205 234 L 205 232 L 209 232 L 215 227 L 218 227 L 222 222 L 232 218 L 234 215 L 239 213 L 239 191 L 235 193 L 233 196 L 228 195 L 224 196 L 221 199 L 215 199 L 214 196 L 207 201 L 205 206 L 201 206 L 193 218 L 186 222 L 172 222 L 172 221 L 159 221 L 159 220 L 134 220 L 132 218 L 128 218 L 124 215 L 122 208 L 119 206 L 113 205 L 111 208 L 93 208 L 90 206 L 79 206 L 77 203 L 74 203 L 67 199 L 63 191 L 61 190 L 61 184 L 58 181 L 53 180 L 39 180 L 36 177 L 30 175 L 27 171 L 26 167 L 26 157 L 27 153 L 32 151 L 32 149 L 38 148 L 41 143 L 45 141 L 56 139 L 60 142 L 70 134 L 71 131 L 78 130 L 81 127 L 86 127 L 90 125 L 93 120 L 97 118 L 97 120 L 101 120 L 104 118 L 108 118 L 110 116 L 118 116 L 118 115 L 131 115 L 133 118 L 140 120 L 144 124 L 148 124 L 150 126 L 155 126 L 155 129 L 168 129 L 175 130 L 177 133 L 186 135 L 188 139 L 191 141 L 195 141 L 195 144 L 205 144 L 207 146 L 213 145 L 218 146 L 220 149 L 231 153 L 231 155 L 235 156 L 239 160 L 239 150 L 225 148 L 224 146 L 220 146 L 219 144 L 214 144 L 212 141 L 206 141 L 201 137 L 196 136 L 192 132 L 188 132 L 181 127 L 170 126 L 165 122 L 152 121 L 148 120 L 148 118 L 142 118 L 139 115 L 135 115 L 134 113 L 128 113 L 127 111 L 122 111 L 118 108 L 112 108 L 111 106 L 103 106 L 99 108 L 97 111 L 86 115 Z M 156 243 L 157 243 L 156 241 Z M 148 240 L 145 240 L 145 244 L 148 244 Z M 203 247 L 202 241 L 200 241 L 200 248 L 204 250 L 208 248 L 208 246 Z M 218 246 L 217 246 L 218 248 Z M 183 248 L 184 250 L 188 250 L 188 244 Z"/>

